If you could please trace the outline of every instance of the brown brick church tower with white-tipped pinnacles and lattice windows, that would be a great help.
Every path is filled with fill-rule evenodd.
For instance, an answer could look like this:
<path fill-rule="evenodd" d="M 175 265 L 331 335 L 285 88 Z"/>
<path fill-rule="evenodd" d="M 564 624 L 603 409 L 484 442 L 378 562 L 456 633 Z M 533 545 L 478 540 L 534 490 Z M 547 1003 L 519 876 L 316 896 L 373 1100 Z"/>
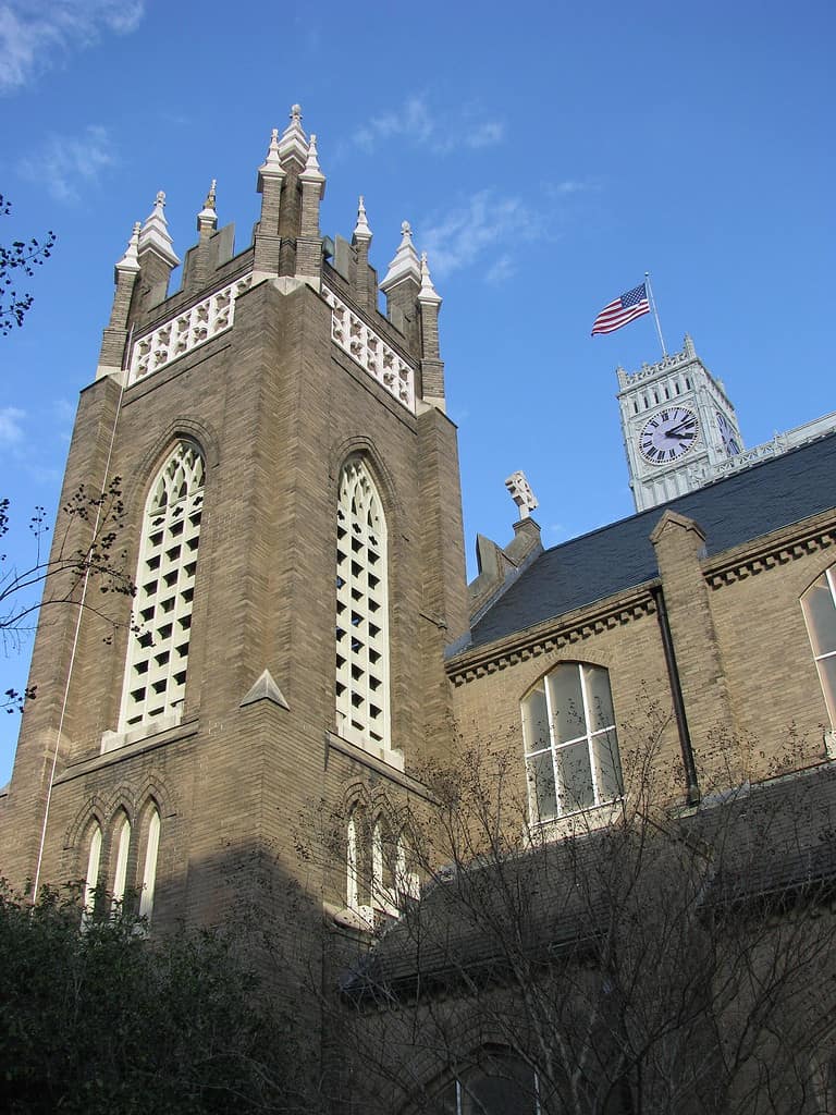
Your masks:
<path fill-rule="evenodd" d="M 162 193 L 116 264 L 62 503 L 120 477 L 136 595 L 38 631 L 0 809 L 17 885 L 86 880 L 88 900 L 135 891 L 155 925 L 197 924 L 269 862 L 349 923 L 375 905 L 351 874 L 357 832 L 348 881 L 344 860 L 301 878 L 294 835 L 360 783 L 410 792 L 449 734 L 458 462 L 426 259 L 405 223 L 383 316 L 362 198 L 351 241 L 331 242 L 324 187 L 294 106 L 259 167 L 250 246 L 217 227 L 213 183 L 179 291 Z"/>

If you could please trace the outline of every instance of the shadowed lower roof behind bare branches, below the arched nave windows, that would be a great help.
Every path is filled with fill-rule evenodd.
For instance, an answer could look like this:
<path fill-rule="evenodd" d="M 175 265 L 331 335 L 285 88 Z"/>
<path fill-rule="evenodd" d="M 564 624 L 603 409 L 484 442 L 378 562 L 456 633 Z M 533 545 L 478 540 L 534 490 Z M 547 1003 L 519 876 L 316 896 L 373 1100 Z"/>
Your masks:
<path fill-rule="evenodd" d="M 416 980 L 432 992 L 449 990 L 465 972 L 468 980 L 502 979 L 508 963 L 524 957 L 583 960 L 602 937 L 630 931 L 624 919 L 633 909 L 633 885 L 640 903 L 647 888 L 655 893 L 658 855 L 684 842 L 692 854 L 674 867 L 673 889 L 679 892 L 687 879 L 704 885 L 700 893 L 682 891 L 682 905 L 672 908 L 680 929 L 692 901 L 707 912 L 729 913 L 755 903 L 760 917 L 769 917 L 798 902 L 827 905 L 836 895 L 832 763 L 708 797 L 694 813 L 671 817 L 665 830 L 639 823 L 624 831 L 616 823 L 439 873 L 343 973 L 342 991 L 385 1002 L 414 992 Z M 652 919 L 649 927 L 652 933 Z"/>

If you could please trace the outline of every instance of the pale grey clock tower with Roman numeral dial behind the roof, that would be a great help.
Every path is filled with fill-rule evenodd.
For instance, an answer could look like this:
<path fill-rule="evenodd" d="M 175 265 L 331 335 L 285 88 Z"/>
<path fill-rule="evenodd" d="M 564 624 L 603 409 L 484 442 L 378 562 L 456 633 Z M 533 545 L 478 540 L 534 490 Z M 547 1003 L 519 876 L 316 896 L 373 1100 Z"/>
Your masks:
<path fill-rule="evenodd" d="M 741 453 L 735 407 L 686 336 L 681 352 L 630 372 L 618 368 L 621 428 L 636 511 L 715 477 Z"/>

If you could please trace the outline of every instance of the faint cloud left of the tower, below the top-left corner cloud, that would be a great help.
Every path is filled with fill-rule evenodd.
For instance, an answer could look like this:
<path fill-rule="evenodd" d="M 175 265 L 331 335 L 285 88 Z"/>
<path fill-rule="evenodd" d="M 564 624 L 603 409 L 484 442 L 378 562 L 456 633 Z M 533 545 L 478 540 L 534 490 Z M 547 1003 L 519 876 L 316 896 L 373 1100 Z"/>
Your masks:
<path fill-rule="evenodd" d="M 58 202 L 77 202 L 116 164 L 107 128 L 91 124 L 78 136 L 49 135 L 18 163 L 21 176 L 42 185 Z"/>

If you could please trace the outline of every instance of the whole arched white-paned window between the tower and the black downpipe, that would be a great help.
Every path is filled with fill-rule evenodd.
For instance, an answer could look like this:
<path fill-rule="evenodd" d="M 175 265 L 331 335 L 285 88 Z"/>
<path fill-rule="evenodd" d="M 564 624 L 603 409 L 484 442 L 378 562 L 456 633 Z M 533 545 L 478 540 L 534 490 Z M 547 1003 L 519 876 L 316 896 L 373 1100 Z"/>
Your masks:
<path fill-rule="evenodd" d="M 611 802 L 622 793 L 610 679 L 600 666 L 566 662 L 523 700 L 532 818 Z"/>

